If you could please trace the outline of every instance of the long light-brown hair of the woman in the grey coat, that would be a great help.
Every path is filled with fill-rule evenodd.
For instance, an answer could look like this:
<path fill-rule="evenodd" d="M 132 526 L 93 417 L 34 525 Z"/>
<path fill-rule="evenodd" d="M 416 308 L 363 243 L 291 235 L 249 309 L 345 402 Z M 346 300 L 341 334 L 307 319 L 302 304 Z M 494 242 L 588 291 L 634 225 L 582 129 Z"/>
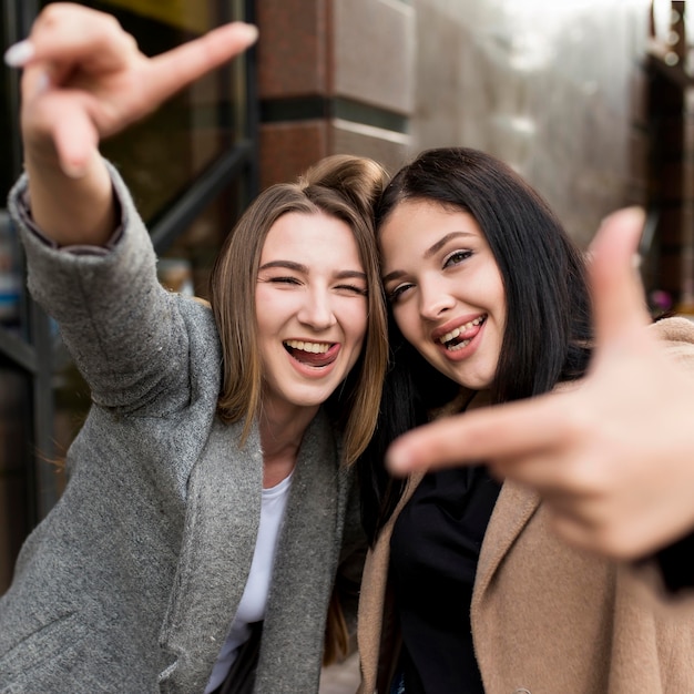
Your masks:
<path fill-rule="evenodd" d="M 387 323 L 372 206 L 386 183 L 385 170 L 366 157 L 330 156 L 296 183 L 265 190 L 227 237 L 210 280 L 210 303 L 223 354 L 223 382 L 217 404 L 226 422 L 244 421 L 243 438 L 262 408 L 263 374 L 257 349 L 255 285 L 265 238 L 284 214 L 322 212 L 349 225 L 368 282 L 365 345 L 344 382 L 326 404 L 343 435 L 343 460 L 353 463 L 371 438 L 386 370 Z"/>

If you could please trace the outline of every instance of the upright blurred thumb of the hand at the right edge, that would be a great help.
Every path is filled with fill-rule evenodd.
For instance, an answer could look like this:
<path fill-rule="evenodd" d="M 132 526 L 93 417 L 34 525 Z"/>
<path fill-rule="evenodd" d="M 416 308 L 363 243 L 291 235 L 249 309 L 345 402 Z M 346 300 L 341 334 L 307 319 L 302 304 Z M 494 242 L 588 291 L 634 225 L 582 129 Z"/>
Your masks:
<path fill-rule="evenodd" d="M 621 210 L 603 221 L 591 243 L 589 282 L 600 349 L 622 343 L 650 323 L 634 266 L 643 223 L 640 207 Z"/>

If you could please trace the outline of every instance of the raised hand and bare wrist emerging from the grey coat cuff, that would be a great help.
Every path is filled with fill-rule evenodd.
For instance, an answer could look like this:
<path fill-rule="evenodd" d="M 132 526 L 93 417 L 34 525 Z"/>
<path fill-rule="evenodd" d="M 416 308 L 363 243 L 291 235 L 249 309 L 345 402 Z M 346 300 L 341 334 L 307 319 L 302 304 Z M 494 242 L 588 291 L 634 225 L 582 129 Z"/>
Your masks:
<path fill-rule="evenodd" d="M 21 126 L 32 214 L 60 244 L 102 243 L 114 226 L 99 142 L 248 48 L 255 27 L 233 22 L 147 58 L 110 14 L 47 6 L 6 52 L 23 68 Z"/>

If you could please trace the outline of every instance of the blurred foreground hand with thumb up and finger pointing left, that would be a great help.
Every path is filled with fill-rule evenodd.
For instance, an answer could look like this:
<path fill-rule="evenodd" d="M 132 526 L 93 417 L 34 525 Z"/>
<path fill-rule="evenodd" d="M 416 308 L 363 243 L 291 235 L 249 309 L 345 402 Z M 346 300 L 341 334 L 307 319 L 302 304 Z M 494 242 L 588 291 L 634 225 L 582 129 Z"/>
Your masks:
<path fill-rule="evenodd" d="M 694 379 L 645 328 L 633 258 L 637 210 L 609 217 L 591 246 L 596 350 L 578 388 L 447 418 L 389 450 L 396 474 L 484 460 L 535 488 L 568 541 L 636 558 L 694 524 Z"/>

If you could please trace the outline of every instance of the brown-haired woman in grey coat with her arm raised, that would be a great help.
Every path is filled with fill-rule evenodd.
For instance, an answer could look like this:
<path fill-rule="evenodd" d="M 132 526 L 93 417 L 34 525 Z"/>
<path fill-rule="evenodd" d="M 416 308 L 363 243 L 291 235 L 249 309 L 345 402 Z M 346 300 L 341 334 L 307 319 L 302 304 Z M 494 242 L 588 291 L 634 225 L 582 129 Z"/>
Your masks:
<path fill-rule="evenodd" d="M 93 407 L 0 600 L 3 692 L 316 692 L 347 643 L 366 549 L 347 466 L 387 358 L 382 170 L 330 159 L 262 193 L 211 309 L 157 283 L 96 149 L 254 37 L 232 24 L 147 59 L 113 18 L 52 3 L 8 54 L 27 171 L 10 210 Z"/>

